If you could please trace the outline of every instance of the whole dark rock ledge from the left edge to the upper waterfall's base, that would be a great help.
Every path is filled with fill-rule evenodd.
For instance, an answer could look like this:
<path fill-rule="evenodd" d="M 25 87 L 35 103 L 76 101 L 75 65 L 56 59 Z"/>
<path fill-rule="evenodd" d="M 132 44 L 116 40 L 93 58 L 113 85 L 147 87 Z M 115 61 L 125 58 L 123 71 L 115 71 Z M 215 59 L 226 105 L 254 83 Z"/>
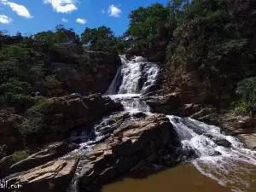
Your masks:
<path fill-rule="evenodd" d="M 24 140 L 27 144 L 42 145 L 61 141 L 79 127 L 90 125 L 108 113 L 123 108 L 99 94 L 91 96 L 62 96 L 45 101 L 48 106 L 32 109 L 32 117 L 14 113 L 0 113 L 0 146 L 7 145 L 7 155 L 19 150 Z M 37 122 L 31 127 L 32 122 Z M 32 130 L 31 130 L 32 129 Z"/>

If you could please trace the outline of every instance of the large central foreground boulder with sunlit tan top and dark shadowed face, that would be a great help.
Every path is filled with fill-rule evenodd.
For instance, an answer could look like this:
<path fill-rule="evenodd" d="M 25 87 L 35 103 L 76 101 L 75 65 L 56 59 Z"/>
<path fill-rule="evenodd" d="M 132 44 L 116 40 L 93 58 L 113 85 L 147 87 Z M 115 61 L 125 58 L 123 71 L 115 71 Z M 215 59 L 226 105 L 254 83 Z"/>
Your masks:
<path fill-rule="evenodd" d="M 126 121 L 113 131 L 119 139 L 91 152 L 96 159 L 86 163 L 79 174 L 79 191 L 91 191 L 145 162 L 160 159 L 174 139 L 174 129 L 165 116 L 156 119 L 155 123 L 153 117 Z"/>

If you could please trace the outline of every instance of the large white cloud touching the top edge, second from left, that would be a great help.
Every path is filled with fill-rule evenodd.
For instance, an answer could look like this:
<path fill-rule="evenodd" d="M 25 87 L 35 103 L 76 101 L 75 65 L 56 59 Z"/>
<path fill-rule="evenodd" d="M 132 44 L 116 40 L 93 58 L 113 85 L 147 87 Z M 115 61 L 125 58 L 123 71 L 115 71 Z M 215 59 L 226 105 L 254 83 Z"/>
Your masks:
<path fill-rule="evenodd" d="M 71 13 L 77 10 L 77 0 L 44 0 L 44 3 L 50 3 L 53 9 L 62 14 Z"/>

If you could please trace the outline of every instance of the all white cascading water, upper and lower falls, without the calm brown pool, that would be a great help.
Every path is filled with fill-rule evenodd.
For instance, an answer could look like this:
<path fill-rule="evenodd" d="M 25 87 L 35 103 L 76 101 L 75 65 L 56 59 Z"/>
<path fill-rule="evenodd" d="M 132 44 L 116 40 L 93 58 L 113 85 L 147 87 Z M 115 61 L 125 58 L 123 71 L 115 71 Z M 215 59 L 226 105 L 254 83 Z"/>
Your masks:
<path fill-rule="evenodd" d="M 143 57 L 134 57 L 129 61 L 124 55 L 120 55 L 120 59 L 122 65 L 105 95 L 119 100 L 127 113 L 144 112 L 154 115 L 150 113 L 150 108 L 141 97 L 151 86 L 157 84 L 160 68 Z M 250 180 L 246 179 L 246 176 L 252 175 L 253 169 L 255 171 L 256 152 L 243 148 L 235 137 L 225 136 L 216 126 L 206 125 L 195 119 L 167 117 L 177 131 L 182 147 L 195 151 L 197 158 L 191 163 L 199 172 L 222 185 L 230 186 L 233 191 L 248 191 Z M 90 150 L 93 144 L 108 138 L 109 133 L 113 131 L 109 130 L 110 119 L 112 115 L 103 118 L 93 125 L 90 132 L 84 131 L 82 137 L 73 136 L 72 140 L 80 139 L 81 147 L 67 155 L 83 154 L 84 151 Z M 216 140 L 219 139 L 228 141 L 231 146 L 218 146 Z"/>

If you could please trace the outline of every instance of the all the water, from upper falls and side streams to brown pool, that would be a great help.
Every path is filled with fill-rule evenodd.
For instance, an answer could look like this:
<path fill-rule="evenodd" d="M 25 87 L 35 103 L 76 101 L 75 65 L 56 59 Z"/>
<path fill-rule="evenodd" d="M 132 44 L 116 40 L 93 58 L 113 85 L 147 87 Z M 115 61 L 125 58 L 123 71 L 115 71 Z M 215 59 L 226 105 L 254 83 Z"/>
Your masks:
<path fill-rule="evenodd" d="M 120 55 L 120 58 L 122 66 L 119 67 L 106 96 L 120 101 L 125 112 L 131 114 L 131 120 L 133 120 L 132 113 L 143 112 L 154 115 L 140 98 L 143 97 L 143 93 L 157 84 L 160 67 L 139 56 L 132 58 L 131 61 L 128 61 L 124 55 Z M 256 191 L 255 151 L 244 148 L 236 137 L 225 136 L 217 126 L 206 125 L 195 119 L 167 117 L 177 131 L 182 147 L 193 149 L 197 158 L 191 160 L 189 165 L 177 166 L 170 171 L 160 172 L 144 179 L 127 176 L 128 178 L 123 181 L 108 185 L 103 192 Z M 80 148 L 67 154 L 65 158 L 84 154 L 96 143 L 101 143 L 110 137 L 113 132 L 110 126 L 111 118 L 112 115 L 104 117 L 92 125 L 90 131 L 81 131 L 79 136 L 74 132 L 71 140 L 79 141 Z M 219 146 L 216 144 L 217 140 L 228 141 L 230 146 Z M 80 166 L 76 175 L 79 174 L 79 169 Z M 202 181 L 197 181 L 196 177 Z M 73 188 L 69 191 L 77 191 L 75 178 L 76 176 L 73 178 Z"/>

